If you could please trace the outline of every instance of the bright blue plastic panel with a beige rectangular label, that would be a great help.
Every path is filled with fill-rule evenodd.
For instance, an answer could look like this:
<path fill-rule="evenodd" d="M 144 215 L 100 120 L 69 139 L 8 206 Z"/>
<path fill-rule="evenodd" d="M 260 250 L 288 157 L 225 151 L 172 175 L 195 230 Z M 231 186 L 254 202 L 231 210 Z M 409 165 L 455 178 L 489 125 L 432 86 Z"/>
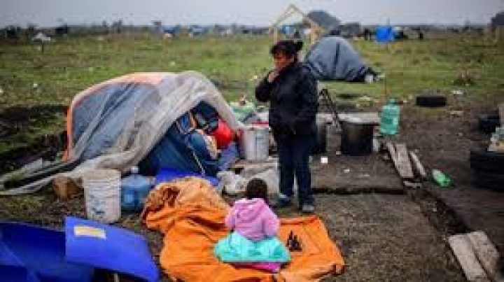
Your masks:
<path fill-rule="evenodd" d="M 92 220 L 65 218 L 66 259 L 158 281 L 159 272 L 144 237 Z"/>

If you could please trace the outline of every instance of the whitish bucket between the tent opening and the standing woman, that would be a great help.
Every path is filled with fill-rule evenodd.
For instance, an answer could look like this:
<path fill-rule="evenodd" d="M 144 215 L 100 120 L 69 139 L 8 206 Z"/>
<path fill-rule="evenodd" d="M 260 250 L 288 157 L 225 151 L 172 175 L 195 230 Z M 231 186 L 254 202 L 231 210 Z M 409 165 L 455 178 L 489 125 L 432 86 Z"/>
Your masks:
<path fill-rule="evenodd" d="M 241 131 L 240 153 L 245 160 L 267 160 L 269 153 L 269 127 L 248 125 Z"/>

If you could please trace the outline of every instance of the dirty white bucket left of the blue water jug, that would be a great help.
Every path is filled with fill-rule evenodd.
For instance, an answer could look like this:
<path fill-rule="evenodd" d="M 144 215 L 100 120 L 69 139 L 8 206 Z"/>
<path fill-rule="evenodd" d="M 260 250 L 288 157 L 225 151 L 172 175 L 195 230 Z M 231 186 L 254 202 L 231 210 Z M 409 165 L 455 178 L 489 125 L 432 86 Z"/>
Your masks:
<path fill-rule="evenodd" d="M 94 169 L 83 175 L 87 218 L 114 223 L 120 218 L 120 171 Z"/>

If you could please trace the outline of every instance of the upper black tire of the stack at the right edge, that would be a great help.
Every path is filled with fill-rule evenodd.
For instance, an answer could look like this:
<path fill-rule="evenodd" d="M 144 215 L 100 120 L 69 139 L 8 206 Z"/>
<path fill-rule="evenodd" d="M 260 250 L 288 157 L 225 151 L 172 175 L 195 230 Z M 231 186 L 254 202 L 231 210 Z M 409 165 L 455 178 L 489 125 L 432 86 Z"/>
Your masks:
<path fill-rule="evenodd" d="M 504 174 L 504 153 L 472 150 L 469 162 L 470 167 L 475 171 Z"/>

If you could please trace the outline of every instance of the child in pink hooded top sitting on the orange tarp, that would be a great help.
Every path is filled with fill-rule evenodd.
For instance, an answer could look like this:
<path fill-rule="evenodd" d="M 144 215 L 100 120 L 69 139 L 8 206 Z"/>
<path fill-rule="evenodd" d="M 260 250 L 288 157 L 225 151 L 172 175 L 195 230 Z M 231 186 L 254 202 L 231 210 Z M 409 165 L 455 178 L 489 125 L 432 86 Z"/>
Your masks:
<path fill-rule="evenodd" d="M 239 199 L 225 218 L 233 230 L 216 244 L 214 253 L 223 262 L 278 272 L 289 262 L 286 247 L 276 238 L 279 219 L 267 204 L 267 185 L 262 179 L 248 182 L 245 199 Z"/>

